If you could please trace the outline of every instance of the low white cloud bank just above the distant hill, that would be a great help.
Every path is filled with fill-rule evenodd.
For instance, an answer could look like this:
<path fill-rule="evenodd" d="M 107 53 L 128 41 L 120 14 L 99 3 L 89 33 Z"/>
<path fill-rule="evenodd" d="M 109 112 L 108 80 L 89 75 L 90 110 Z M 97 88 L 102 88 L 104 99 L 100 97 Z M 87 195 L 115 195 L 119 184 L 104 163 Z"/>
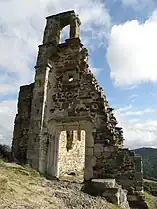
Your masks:
<path fill-rule="evenodd" d="M 128 111 L 128 107 L 115 111 L 119 125 L 123 127 L 125 146 L 129 148 L 157 147 L 157 120 L 143 120 L 140 115 L 145 115 L 157 110 L 144 109 Z M 132 116 L 131 118 L 128 116 Z"/>

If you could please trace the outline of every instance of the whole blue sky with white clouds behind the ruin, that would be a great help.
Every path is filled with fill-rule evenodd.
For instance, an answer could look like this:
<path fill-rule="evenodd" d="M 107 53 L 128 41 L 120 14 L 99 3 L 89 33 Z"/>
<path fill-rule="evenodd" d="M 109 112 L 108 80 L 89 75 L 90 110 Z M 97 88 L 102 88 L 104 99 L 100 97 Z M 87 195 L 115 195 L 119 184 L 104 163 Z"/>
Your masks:
<path fill-rule="evenodd" d="M 157 147 L 156 0 L 0 1 L 1 143 L 11 143 L 20 85 L 34 79 L 45 17 L 71 9 L 81 19 L 90 68 L 115 109 L 125 146 Z"/>

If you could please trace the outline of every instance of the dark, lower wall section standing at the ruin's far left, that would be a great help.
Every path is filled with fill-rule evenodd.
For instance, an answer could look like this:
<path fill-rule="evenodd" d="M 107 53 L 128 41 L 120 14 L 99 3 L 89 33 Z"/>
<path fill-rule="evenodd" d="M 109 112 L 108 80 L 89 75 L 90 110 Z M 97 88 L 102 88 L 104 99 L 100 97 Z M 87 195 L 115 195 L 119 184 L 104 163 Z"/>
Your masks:
<path fill-rule="evenodd" d="M 20 163 L 26 163 L 34 83 L 20 87 L 18 112 L 15 118 L 12 153 Z"/>

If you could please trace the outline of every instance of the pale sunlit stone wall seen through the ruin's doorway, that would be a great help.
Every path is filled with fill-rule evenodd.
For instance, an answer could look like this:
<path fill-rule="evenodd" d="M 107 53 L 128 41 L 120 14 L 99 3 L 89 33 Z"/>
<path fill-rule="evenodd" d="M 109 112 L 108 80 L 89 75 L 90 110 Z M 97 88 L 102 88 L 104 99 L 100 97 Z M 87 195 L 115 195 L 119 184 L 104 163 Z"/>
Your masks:
<path fill-rule="evenodd" d="M 59 175 L 84 175 L 85 166 L 85 133 L 78 138 L 77 131 L 61 132 L 59 141 Z M 68 135 L 68 136 L 67 136 Z M 70 143 L 68 143 L 70 140 Z"/>

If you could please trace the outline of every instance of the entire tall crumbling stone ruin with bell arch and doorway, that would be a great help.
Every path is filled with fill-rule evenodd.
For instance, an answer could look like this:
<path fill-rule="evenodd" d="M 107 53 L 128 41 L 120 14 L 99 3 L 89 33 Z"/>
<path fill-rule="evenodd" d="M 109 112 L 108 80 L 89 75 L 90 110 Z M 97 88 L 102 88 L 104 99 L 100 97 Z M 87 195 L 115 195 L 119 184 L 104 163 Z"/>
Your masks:
<path fill-rule="evenodd" d="M 35 82 L 21 86 L 12 153 L 56 178 L 82 176 L 118 205 L 147 208 L 142 159 L 123 148 L 123 131 L 88 65 L 74 11 L 46 18 Z M 70 25 L 69 39 L 60 43 Z"/>

